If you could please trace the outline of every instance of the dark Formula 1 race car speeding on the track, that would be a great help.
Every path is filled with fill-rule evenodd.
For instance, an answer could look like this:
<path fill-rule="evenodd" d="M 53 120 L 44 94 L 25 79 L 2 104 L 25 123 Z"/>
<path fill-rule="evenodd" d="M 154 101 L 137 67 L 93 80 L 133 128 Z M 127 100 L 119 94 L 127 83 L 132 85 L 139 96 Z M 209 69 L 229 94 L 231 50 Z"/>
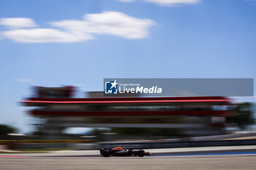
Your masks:
<path fill-rule="evenodd" d="M 124 147 L 114 147 L 113 149 L 106 149 L 102 147 L 99 150 L 100 155 L 103 157 L 110 156 L 139 156 L 143 157 L 144 155 L 152 155 L 151 152 L 145 152 L 144 150 L 132 150 L 132 149 L 124 149 Z"/>

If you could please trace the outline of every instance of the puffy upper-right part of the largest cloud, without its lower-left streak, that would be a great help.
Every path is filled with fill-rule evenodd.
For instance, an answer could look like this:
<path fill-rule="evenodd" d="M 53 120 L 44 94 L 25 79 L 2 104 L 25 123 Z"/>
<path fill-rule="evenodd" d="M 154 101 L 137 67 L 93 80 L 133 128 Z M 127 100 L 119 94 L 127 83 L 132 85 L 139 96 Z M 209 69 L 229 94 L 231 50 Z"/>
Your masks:
<path fill-rule="evenodd" d="M 148 36 L 148 28 L 153 20 L 130 17 L 122 12 L 102 12 L 84 15 L 84 20 L 63 20 L 50 23 L 79 34 L 111 34 L 125 39 L 143 39 Z"/>

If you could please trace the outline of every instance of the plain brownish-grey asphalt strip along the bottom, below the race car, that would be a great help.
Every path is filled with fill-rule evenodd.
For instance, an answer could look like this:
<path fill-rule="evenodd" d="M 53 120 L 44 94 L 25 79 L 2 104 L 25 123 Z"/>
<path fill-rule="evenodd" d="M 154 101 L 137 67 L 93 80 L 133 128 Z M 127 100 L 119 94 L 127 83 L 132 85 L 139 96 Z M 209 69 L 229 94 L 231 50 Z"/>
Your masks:
<path fill-rule="evenodd" d="M 255 155 L 144 158 L 0 158 L 2 170 L 18 169 L 256 169 Z"/>

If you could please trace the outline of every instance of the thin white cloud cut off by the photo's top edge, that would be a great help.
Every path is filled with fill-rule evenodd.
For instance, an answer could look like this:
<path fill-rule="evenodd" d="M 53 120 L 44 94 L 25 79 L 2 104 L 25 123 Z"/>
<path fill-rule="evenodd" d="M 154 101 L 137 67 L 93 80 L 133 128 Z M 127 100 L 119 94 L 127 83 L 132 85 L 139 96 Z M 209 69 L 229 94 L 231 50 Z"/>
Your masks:
<path fill-rule="evenodd" d="M 121 2 L 131 2 L 136 0 L 118 0 Z M 170 6 L 176 4 L 197 4 L 201 0 L 137 0 L 137 1 L 148 1 L 158 5 Z"/>

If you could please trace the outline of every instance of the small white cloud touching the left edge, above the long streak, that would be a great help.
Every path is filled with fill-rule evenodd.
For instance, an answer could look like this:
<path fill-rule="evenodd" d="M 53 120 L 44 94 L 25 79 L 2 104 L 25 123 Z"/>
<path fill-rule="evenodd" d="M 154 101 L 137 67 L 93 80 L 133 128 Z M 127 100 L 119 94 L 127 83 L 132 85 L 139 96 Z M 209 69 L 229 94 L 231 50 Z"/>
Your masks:
<path fill-rule="evenodd" d="M 31 18 L 0 18 L 0 25 L 8 28 L 37 27 L 37 24 Z"/>

